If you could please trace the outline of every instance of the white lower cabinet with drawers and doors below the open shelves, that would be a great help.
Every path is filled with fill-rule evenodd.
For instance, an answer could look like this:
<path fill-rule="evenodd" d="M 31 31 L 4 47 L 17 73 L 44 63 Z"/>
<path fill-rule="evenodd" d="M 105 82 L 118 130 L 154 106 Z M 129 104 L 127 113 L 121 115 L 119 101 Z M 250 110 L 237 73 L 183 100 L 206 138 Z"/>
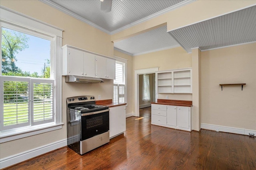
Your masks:
<path fill-rule="evenodd" d="M 151 124 L 191 131 L 191 107 L 152 104 Z"/>

